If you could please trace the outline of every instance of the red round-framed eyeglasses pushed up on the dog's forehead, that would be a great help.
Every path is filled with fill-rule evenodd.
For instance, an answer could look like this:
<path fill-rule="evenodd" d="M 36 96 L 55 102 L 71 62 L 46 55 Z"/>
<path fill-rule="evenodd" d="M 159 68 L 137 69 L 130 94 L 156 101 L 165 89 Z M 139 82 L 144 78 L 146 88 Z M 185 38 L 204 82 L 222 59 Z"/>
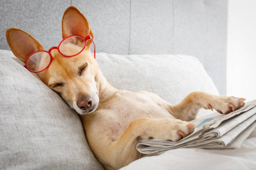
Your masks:
<path fill-rule="evenodd" d="M 51 47 L 49 51 L 41 50 L 33 52 L 26 60 L 26 67 L 31 72 L 41 72 L 49 67 L 53 57 L 51 50 L 57 49 L 64 57 L 73 57 L 78 55 L 86 46 L 87 40 L 91 40 L 94 45 L 94 58 L 95 58 L 95 43 L 91 36 L 82 37 L 80 35 L 70 35 L 64 38 L 58 47 Z M 67 49 L 66 47 L 71 47 Z"/>

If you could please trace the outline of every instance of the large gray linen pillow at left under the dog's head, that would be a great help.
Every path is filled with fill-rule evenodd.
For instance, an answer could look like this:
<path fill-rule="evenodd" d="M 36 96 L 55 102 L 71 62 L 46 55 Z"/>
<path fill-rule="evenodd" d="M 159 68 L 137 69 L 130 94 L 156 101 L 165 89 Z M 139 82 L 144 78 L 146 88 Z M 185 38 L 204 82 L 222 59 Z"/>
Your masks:
<path fill-rule="evenodd" d="M 0 50 L 0 169 L 103 170 L 77 113 L 17 61 Z"/>

